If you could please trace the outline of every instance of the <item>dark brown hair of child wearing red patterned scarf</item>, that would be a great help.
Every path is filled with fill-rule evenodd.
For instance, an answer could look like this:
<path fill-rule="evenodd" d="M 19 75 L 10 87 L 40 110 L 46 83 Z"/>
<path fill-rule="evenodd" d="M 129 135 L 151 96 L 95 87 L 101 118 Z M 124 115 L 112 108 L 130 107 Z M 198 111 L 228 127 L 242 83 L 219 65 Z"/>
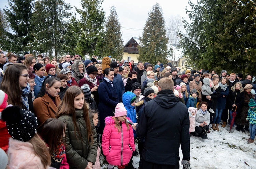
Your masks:
<path fill-rule="evenodd" d="M 64 142 L 65 122 L 58 119 L 49 118 L 38 128 L 37 132 L 42 140 L 48 144 L 50 154 L 59 153 L 59 145 Z"/>

